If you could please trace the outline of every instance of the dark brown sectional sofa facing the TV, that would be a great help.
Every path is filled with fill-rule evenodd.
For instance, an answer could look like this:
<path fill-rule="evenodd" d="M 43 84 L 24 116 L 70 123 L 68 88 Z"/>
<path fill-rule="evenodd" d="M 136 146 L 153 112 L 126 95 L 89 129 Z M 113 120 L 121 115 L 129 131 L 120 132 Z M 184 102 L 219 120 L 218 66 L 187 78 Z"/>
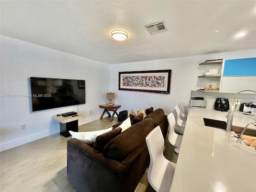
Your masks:
<path fill-rule="evenodd" d="M 164 138 L 168 130 L 167 116 L 160 108 L 135 120 L 136 124 L 115 136 L 102 151 L 74 138 L 67 141 L 68 181 L 78 192 L 135 190 L 150 162 L 146 136 L 158 125 Z"/>

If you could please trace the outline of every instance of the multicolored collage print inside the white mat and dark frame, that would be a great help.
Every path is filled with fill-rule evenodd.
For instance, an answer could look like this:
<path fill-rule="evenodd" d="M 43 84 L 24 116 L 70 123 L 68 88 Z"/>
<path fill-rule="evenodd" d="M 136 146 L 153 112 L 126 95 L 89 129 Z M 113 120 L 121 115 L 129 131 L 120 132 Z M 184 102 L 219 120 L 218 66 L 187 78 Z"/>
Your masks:
<path fill-rule="evenodd" d="M 164 88 L 165 75 L 123 76 L 123 86 Z"/>

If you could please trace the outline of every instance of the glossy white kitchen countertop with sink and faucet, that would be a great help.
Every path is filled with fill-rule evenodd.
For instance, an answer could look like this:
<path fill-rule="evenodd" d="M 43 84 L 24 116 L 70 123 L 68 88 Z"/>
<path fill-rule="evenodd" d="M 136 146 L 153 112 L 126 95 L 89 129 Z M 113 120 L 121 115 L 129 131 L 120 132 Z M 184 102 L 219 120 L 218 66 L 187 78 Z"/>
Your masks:
<path fill-rule="evenodd" d="M 189 109 L 171 192 L 256 191 L 255 148 L 237 143 L 234 132 L 204 126 L 203 118 L 227 121 L 227 114 Z M 255 121 L 256 116 L 235 112 L 233 126 Z"/>

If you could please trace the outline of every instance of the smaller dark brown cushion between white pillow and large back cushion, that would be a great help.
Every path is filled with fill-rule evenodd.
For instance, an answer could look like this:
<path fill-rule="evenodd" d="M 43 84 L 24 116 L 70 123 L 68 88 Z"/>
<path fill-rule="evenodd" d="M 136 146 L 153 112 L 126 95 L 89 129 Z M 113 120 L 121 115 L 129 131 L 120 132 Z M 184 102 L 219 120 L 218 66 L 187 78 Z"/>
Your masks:
<path fill-rule="evenodd" d="M 109 132 L 106 132 L 104 134 L 101 134 L 99 136 L 96 137 L 96 140 L 94 142 L 93 148 L 98 150 L 98 151 L 102 151 L 104 146 L 113 138 L 115 138 L 116 136 L 118 136 L 122 131 L 122 128 L 118 127 L 116 129 L 113 129 Z"/>

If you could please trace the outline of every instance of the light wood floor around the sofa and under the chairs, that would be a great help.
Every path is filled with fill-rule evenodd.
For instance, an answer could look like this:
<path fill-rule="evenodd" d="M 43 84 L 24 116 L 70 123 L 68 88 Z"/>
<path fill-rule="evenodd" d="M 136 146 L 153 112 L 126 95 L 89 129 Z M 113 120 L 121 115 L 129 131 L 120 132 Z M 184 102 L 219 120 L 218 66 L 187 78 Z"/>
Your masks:
<path fill-rule="evenodd" d="M 100 130 L 118 122 L 109 117 L 82 126 L 79 131 Z M 76 192 L 67 180 L 65 138 L 54 134 L 0 153 L 0 192 Z M 167 137 L 166 137 L 167 138 Z M 164 155 L 177 162 L 174 146 L 165 142 Z M 154 192 L 145 173 L 135 192 Z"/>

